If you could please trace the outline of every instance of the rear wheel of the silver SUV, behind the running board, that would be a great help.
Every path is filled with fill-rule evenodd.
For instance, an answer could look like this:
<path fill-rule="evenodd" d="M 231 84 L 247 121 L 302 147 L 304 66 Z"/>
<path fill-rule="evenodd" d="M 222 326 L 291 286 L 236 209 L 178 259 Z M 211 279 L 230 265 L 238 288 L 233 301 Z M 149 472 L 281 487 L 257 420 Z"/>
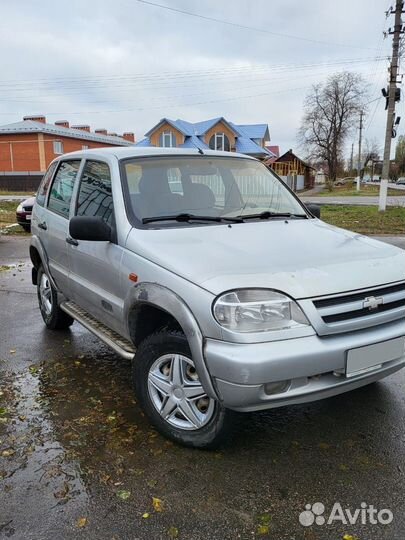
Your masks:
<path fill-rule="evenodd" d="M 74 319 L 60 309 L 58 294 L 42 265 L 37 273 L 37 294 L 39 309 L 47 328 L 65 330 L 73 324 Z"/>

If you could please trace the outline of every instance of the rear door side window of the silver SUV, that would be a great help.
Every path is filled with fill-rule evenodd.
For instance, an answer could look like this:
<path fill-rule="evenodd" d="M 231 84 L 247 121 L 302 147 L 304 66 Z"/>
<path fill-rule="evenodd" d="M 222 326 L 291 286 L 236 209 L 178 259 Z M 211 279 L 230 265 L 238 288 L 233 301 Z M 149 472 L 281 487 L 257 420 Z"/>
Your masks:
<path fill-rule="evenodd" d="M 62 161 L 56 173 L 49 195 L 48 209 L 69 217 L 73 186 L 80 168 L 80 160 Z"/>

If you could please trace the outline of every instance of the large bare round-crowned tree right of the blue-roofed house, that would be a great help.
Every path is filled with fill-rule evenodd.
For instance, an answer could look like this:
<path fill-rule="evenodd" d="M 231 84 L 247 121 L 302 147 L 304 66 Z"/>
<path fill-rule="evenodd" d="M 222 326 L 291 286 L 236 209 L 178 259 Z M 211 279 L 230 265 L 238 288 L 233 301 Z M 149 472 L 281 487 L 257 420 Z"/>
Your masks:
<path fill-rule="evenodd" d="M 325 161 L 329 180 L 336 180 L 345 140 L 357 126 L 366 97 L 362 77 L 348 71 L 336 73 L 325 84 L 314 85 L 304 102 L 298 137 L 309 158 Z"/>

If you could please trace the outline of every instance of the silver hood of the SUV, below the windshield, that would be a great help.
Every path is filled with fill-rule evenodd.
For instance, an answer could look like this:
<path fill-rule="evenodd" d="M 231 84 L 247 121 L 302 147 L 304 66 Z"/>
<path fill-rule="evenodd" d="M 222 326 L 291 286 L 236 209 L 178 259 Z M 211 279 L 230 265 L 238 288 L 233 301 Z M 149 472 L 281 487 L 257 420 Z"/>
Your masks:
<path fill-rule="evenodd" d="M 318 219 L 133 229 L 127 247 L 217 295 L 308 298 L 405 280 L 405 251 Z"/>

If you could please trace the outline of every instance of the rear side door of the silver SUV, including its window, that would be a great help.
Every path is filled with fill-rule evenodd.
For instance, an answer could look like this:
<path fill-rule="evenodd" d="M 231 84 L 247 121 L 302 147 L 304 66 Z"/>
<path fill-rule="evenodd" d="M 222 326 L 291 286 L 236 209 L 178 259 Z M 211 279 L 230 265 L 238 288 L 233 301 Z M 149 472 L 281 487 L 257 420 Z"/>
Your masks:
<path fill-rule="evenodd" d="M 38 216 L 38 227 L 41 229 L 41 240 L 48 255 L 49 271 L 58 289 L 67 297 L 70 295 L 70 284 L 66 238 L 69 236 L 73 187 L 80 165 L 80 159 L 59 162 L 49 190 L 46 210 L 41 213 L 41 217 Z"/>

